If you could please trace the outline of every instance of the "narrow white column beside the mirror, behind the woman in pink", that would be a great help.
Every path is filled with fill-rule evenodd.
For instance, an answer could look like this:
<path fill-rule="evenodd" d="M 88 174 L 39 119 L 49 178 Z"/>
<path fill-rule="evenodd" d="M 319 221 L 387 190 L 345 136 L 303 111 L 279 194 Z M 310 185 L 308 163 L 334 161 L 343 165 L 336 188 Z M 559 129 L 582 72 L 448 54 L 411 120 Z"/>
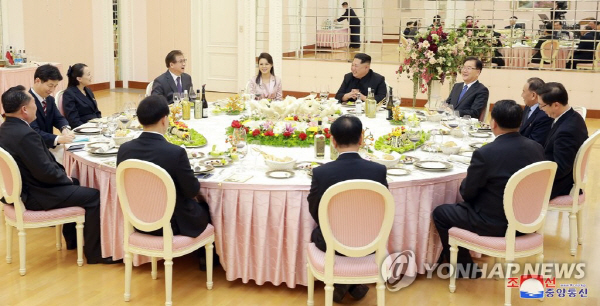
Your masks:
<path fill-rule="evenodd" d="M 269 0 L 269 54 L 273 57 L 275 75 L 282 75 L 283 3 Z"/>

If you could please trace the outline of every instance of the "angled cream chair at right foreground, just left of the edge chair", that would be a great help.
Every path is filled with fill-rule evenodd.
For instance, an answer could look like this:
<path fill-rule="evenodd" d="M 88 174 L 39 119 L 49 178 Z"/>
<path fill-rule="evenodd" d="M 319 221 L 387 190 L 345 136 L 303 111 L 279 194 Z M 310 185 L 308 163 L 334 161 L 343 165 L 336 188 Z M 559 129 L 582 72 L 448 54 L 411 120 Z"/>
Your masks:
<path fill-rule="evenodd" d="M 450 229 L 450 292 L 456 291 L 458 248 L 463 247 L 505 259 L 504 305 L 511 304 L 511 288 L 508 287 L 508 281 L 514 259 L 532 255 L 537 255 L 538 263 L 542 263 L 544 259 L 544 221 L 556 168 L 555 162 L 542 161 L 531 164 L 511 176 L 504 188 L 504 213 L 508 220 L 504 237 L 480 236 L 458 227 Z M 517 237 L 517 232 L 525 235 Z"/>

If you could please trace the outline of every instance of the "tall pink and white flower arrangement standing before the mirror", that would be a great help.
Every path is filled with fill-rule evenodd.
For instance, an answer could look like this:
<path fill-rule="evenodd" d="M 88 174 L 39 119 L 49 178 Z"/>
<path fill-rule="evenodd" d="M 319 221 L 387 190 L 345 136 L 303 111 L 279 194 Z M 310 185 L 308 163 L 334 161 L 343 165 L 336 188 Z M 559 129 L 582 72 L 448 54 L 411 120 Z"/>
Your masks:
<path fill-rule="evenodd" d="M 466 53 L 467 39 L 456 31 L 444 31 L 442 27 L 431 27 L 425 33 L 408 40 L 406 58 L 396 73 L 407 73 L 414 83 L 413 107 L 417 92 L 428 91 L 431 80 L 444 82 L 446 77 L 458 73 L 458 67 Z"/>

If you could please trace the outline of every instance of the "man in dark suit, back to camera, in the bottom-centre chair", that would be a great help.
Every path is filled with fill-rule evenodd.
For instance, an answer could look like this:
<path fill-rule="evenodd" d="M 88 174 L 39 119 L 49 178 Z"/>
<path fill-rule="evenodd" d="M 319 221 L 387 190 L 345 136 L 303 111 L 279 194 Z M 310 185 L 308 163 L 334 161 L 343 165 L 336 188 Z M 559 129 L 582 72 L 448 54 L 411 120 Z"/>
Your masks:
<path fill-rule="evenodd" d="M 367 179 L 378 182 L 387 187 L 386 168 L 383 165 L 364 160 L 358 155 L 362 144 L 362 123 L 353 116 L 342 116 L 331 124 L 331 141 L 340 153 L 337 160 L 313 169 L 313 177 L 308 194 L 309 211 L 315 222 L 319 224 L 319 204 L 325 191 L 332 185 L 354 179 Z M 365 203 L 365 205 L 368 205 Z M 321 251 L 325 252 L 327 246 L 321 232 L 317 227 L 313 230 L 311 241 Z M 346 292 L 350 292 L 355 299 L 361 299 L 369 290 L 365 285 L 334 285 L 333 299 L 340 302 Z"/>

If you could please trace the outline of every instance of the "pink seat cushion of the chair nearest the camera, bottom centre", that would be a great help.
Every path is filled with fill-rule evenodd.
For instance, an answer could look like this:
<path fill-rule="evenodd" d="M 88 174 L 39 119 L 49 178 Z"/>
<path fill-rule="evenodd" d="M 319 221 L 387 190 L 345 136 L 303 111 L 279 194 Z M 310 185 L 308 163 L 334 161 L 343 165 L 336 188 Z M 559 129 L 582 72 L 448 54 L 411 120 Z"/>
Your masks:
<path fill-rule="evenodd" d="M 314 243 L 308 245 L 308 260 L 319 273 L 325 273 L 325 252 Z M 335 256 L 333 275 L 345 277 L 377 276 L 379 267 L 375 263 L 375 254 L 365 257 Z"/>

